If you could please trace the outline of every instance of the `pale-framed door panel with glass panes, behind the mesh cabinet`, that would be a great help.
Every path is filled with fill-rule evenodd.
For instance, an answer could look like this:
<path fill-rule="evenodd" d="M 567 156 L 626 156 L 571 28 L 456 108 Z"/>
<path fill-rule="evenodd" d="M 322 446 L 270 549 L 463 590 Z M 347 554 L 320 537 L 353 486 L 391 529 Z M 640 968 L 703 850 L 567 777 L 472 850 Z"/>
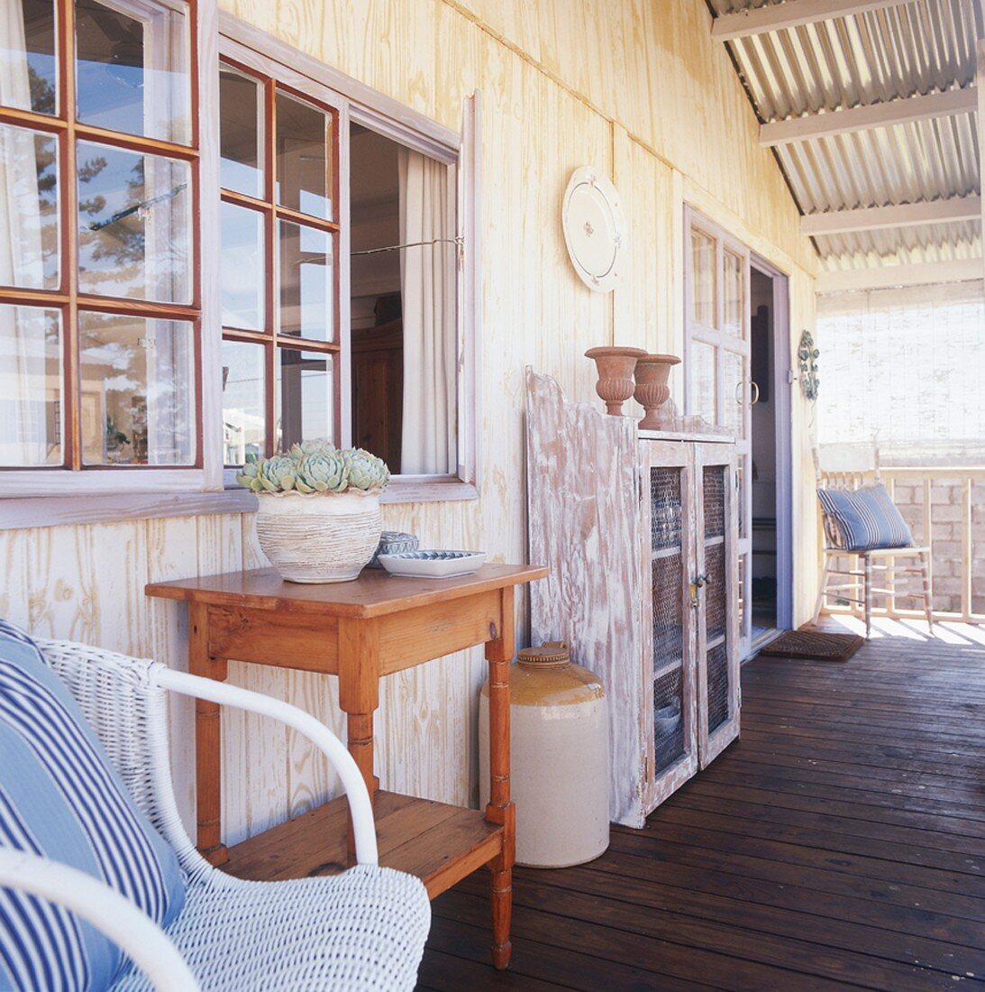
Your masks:
<path fill-rule="evenodd" d="M 745 658 L 752 634 L 749 250 L 694 210 L 685 221 L 685 409 L 735 436 L 738 650 Z"/>

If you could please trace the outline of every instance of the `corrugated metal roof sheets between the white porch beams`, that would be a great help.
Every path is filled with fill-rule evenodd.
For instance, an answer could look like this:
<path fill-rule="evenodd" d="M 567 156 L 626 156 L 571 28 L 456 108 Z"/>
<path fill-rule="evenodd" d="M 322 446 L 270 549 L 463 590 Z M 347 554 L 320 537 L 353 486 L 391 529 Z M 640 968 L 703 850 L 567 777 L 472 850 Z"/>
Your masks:
<path fill-rule="evenodd" d="M 711 0 L 717 14 L 775 0 Z M 728 42 L 761 120 L 964 87 L 979 0 L 902 6 Z M 777 155 L 805 213 L 889 206 L 980 192 L 976 115 L 965 113 L 780 145 Z M 982 254 L 981 225 L 962 221 L 815 239 L 825 268 L 940 261 Z"/>

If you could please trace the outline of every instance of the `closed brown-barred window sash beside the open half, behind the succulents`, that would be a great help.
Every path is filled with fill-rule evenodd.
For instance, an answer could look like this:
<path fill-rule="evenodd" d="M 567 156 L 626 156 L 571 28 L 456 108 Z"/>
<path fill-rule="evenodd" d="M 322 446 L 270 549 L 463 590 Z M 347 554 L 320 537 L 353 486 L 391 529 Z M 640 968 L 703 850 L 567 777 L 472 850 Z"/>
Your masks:
<path fill-rule="evenodd" d="M 338 440 L 338 114 L 223 62 L 222 378 L 226 464 Z"/>

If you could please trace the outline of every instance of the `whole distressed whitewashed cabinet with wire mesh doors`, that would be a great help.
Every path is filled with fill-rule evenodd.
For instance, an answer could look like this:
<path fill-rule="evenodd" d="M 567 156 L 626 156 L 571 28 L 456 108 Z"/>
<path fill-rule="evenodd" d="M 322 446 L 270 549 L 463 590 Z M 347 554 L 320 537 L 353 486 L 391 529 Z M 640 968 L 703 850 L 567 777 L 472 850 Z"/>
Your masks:
<path fill-rule="evenodd" d="M 527 374 L 531 640 L 605 683 L 610 815 L 649 812 L 738 734 L 734 444 L 640 434 Z"/>

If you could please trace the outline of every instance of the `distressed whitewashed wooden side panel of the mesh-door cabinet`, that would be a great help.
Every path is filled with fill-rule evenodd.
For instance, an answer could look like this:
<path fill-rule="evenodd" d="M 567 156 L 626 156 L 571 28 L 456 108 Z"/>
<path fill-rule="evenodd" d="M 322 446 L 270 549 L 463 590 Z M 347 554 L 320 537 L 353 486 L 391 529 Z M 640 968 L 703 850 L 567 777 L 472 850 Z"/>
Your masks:
<path fill-rule="evenodd" d="M 635 465 L 634 421 L 566 403 L 552 378 L 527 370 L 530 559 L 551 566 L 530 589 L 531 640 L 567 641 L 572 659 L 605 681 L 609 712 L 641 718 Z M 620 657 L 624 665 L 600 670 Z M 610 744 L 609 815 L 635 823 L 639 801 L 631 798 L 645 778 L 639 735 L 613 733 Z"/>

